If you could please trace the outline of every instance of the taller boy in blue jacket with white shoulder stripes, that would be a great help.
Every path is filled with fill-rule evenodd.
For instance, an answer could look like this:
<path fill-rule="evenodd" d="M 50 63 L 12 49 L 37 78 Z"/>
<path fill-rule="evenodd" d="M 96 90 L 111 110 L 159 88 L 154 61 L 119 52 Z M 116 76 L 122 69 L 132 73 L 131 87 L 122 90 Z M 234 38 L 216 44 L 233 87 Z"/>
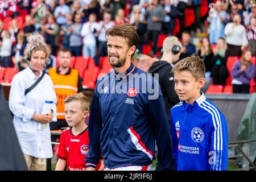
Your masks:
<path fill-rule="evenodd" d="M 200 92 L 205 65 L 200 57 L 175 64 L 175 92 L 181 102 L 171 109 L 173 158 L 181 170 L 226 170 L 228 128 L 221 111 Z"/>

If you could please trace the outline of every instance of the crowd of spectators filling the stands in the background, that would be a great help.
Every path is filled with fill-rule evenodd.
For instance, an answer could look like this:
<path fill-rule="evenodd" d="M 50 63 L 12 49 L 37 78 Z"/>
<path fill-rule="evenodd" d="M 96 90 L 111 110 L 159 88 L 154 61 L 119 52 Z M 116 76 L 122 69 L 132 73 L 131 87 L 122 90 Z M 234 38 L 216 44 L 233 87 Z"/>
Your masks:
<path fill-rule="evenodd" d="M 202 2 L 207 2 L 209 13 L 200 17 Z M 46 5 L 46 16 L 41 16 L 40 3 Z M 211 4 L 212 3 L 212 4 Z M 185 10 L 193 9 L 195 22 L 185 27 Z M 26 10 L 24 25 L 20 28 L 16 17 Z M 3 21 L 12 17 L 11 26 L 4 28 Z M 256 51 L 256 3 L 249 0 L 3 0 L 0 2 L 0 60 L 2 67 L 26 68 L 24 51 L 27 36 L 40 32 L 51 49 L 48 67 L 56 65 L 57 50 L 65 47 L 72 56 L 93 57 L 95 64 L 107 56 L 106 30 L 114 24 L 130 23 L 138 31 L 139 52 L 150 44 L 150 56 L 161 51 L 160 34 L 173 35 L 179 20 L 181 40 L 180 59 L 201 56 L 207 67 L 207 78 L 213 84 L 225 85 L 228 76 L 220 69 L 228 56 L 241 57 L 249 49 Z M 208 27 L 205 26 L 208 24 Z M 201 48 L 192 42 L 196 33 L 207 32 L 201 39 Z M 216 48 L 212 49 L 214 45 Z M 221 71 L 220 71 L 221 70 Z M 224 80 L 223 80 L 224 79 Z"/>

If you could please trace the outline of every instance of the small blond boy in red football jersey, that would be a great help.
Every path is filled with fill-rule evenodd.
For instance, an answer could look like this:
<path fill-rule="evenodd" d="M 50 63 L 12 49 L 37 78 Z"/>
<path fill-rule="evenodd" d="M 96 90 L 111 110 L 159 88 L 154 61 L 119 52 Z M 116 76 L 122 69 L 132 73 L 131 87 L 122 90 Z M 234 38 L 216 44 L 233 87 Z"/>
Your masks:
<path fill-rule="evenodd" d="M 82 94 L 73 94 L 64 101 L 65 119 L 69 129 L 60 135 L 59 158 L 55 171 L 85 171 L 85 157 L 89 153 L 88 126 L 85 118 L 89 114 L 90 101 Z M 101 162 L 96 170 L 103 170 Z"/>

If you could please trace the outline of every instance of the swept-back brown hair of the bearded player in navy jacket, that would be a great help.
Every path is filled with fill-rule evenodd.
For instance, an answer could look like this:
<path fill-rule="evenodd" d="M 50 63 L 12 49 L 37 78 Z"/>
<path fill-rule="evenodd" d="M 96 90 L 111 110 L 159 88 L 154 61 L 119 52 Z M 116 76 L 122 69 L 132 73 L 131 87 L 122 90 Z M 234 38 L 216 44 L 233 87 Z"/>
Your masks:
<path fill-rule="evenodd" d="M 108 36 L 121 36 L 122 38 L 125 38 L 129 47 L 131 46 L 135 46 L 136 48 L 138 47 L 139 36 L 138 36 L 137 30 L 133 26 L 131 26 L 131 24 L 129 23 L 123 23 L 120 25 L 115 25 L 110 27 L 106 31 L 106 34 L 105 34 L 106 39 L 108 39 Z M 133 57 L 133 55 L 131 55 L 131 57 Z"/>

